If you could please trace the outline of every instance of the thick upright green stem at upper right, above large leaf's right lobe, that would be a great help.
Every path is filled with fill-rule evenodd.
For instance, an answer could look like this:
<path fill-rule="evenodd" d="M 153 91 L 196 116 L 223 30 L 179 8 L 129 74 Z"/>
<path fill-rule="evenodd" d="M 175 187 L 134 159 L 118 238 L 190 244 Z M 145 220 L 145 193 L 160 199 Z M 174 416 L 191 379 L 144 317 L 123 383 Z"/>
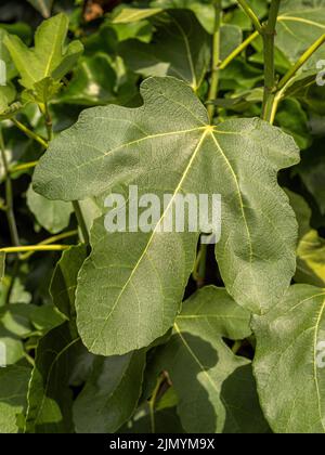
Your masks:
<path fill-rule="evenodd" d="M 264 96 L 262 118 L 271 121 L 273 104 L 275 99 L 275 27 L 278 15 L 281 0 L 272 0 L 269 21 L 262 27 L 262 36 L 264 43 Z"/>

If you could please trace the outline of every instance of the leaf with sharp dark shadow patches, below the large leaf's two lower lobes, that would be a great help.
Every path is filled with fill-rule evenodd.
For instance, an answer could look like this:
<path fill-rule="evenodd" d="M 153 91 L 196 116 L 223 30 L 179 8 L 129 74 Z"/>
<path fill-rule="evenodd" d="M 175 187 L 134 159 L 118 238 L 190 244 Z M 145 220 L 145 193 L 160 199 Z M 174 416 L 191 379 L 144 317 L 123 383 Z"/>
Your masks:
<path fill-rule="evenodd" d="M 151 368 L 168 372 L 187 432 L 266 430 L 250 362 L 222 340 L 249 335 L 248 321 L 224 289 L 203 289 L 184 302 L 170 341 L 157 350 Z"/>

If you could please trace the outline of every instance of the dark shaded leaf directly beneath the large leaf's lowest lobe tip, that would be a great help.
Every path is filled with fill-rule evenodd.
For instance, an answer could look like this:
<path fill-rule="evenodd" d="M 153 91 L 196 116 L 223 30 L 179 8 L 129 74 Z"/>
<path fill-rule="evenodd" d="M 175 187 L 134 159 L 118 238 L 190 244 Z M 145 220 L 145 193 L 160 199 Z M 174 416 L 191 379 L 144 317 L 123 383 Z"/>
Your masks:
<path fill-rule="evenodd" d="M 79 433 L 116 432 L 134 413 L 142 390 L 145 352 L 96 358 L 74 404 Z"/>

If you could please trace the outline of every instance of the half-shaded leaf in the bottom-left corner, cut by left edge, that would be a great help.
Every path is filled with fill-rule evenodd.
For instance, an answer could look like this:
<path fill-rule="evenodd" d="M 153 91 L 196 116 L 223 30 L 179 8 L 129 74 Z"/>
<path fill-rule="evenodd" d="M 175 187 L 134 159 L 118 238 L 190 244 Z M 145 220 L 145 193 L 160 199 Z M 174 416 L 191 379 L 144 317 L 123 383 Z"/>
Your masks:
<path fill-rule="evenodd" d="M 26 407 L 30 369 L 24 366 L 0 368 L 0 433 L 17 433 L 17 415 Z"/>

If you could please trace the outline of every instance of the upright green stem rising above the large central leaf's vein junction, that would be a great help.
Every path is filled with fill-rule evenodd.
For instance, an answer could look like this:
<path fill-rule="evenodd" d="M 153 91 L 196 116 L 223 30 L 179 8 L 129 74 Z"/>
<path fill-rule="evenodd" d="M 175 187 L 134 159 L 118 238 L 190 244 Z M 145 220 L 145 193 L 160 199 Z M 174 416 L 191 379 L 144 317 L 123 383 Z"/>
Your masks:
<path fill-rule="evenodd" d="M 212 44 L 212 67 L 211 67 L 211 82 L 208 94 L 208 101 L 214 101 L 218 95 L 219 88 L 219 63 L 220 63 L 220 27 L 221 27 L 221 16 L 222 16 L 222 5 L 221 0 L 214 0 L 214 32 L 213 32 L 213 44 Z M 208 105 L 208 114 L 210 117 L 210 122 L 213 122 L 213 117 L 216 114 L 214 104 Z"/>

